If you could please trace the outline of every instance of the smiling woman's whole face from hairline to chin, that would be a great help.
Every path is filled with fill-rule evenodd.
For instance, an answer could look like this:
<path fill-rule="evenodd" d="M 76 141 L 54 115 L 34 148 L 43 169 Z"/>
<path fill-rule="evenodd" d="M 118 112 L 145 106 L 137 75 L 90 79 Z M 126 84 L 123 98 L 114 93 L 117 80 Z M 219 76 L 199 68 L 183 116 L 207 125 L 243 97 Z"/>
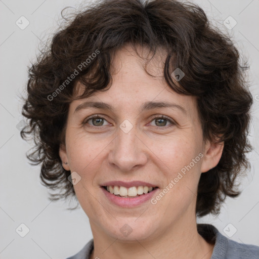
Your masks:
<path fill-rule="evenodd" d="M 110 89 L 70 104 L 60 157 L 74 174 L 74 190 L 93 232 L 130 242 L 196 220 L 200 174 L 217 165 L 223 147 L 203 141 L 196 99 L 166 85 L 164 57 L 161 52 L 149 63 L 148 71 L 156 76 L 151 77 L 143 60 L 124 48 L 114 56 Z M 110 107 L 89 107 L 85 102 Z M 148 102 L 171 106 L 143 106 Z M 113 181 L 123 183 L 107 184 Z M 136 190 L 141 193 L 139 186 L 156 188 L 123 198 L 103 187 L 116 184 L 128 187 L 127 194 L 133 196 Z"/>

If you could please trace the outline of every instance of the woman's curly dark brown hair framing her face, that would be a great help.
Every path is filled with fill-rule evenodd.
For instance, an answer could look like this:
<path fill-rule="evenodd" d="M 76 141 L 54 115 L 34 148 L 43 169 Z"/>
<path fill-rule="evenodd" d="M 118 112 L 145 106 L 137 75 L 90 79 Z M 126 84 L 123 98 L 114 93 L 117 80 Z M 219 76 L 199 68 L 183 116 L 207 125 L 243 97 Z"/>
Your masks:
<path fill-rule="evenodd" d="M 198 217 L 218 214 L 226 196 L 240 194 L 235 180 L 250 168 L 246 153 L 252 149 L 247 139 L 252 97 L 244 73 L 248 67 L 241 64 L 233 41 L 209 24 L 204 11 L 194 4 L 108 0 L 66 20 L 29 67 L 22 111 L 29 123 L 21 137 L 32 135 L 35 145 L 27 158 L 31 164 L 42 163 L 41 182 L 54 191 L 50 199 L 75 197 L 67 180 L 70 171 L 62 167 L 59 156 L 69 103 L 108 90 L 111 55 L 125 44 L 136 52 L 137 45 L 153 54 L 160 47 L 166 51 L 166 83 L 178 94 L 198 98 L 204 139 L 224 141 L 218 165 L 201 174 L 196 203 Z M 171 75 L 176 68 L 185 73 L 180 84 Z M 85 89 L 75 98 L 78 82 Z"/>

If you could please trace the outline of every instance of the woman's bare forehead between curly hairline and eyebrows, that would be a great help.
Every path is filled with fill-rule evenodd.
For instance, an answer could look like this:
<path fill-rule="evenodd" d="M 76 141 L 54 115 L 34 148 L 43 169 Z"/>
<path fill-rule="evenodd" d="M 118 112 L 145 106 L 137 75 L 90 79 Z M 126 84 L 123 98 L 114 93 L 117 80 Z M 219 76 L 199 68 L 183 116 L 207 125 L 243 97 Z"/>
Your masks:
<path fill-rule="evenodd" d="M 141 111 L 147 107 L 165 107 L 165 103 L 167 103 L 168 107 L 170 104 L 172 104 L 171 107 L 175 106 L 174 108 L 178 106 L 187 115 L 191 115 L 191 111 L 196 108 L 196 99 L 177 94 L 164 80 L 163 65 L 166 53 L 159 49 L 150 59 L 152 54 L 148 49 L 138 49 L 138 51 L 141 57 L 130 46 L 115 52 L 112 55 L 112 83 L 109 85 L 109 89 L 104 92 L 96 92 L 88 98 L 73 101 L 72 109 L 75 111 L 78 105 L 83 106 L 85 101 L 106 103 L 108 105 L 101 105 L 101 107 L 99 104 L 99 107 L 113 111 L 128 109 Z M 76 96 L 81 95 L 84 86 L 78 83 L 75 87 Z"/>

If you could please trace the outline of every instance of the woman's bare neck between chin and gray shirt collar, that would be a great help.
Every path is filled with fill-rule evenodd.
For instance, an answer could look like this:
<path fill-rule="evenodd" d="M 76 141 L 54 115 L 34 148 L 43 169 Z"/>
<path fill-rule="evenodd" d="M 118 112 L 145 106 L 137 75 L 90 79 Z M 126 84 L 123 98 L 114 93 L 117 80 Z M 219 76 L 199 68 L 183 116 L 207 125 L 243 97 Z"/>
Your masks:
<path fill-rule="evenodd" d="M 197 232 L 196 218 L 189 221 L 181 220 L 170 228 L 166 228 L 155 237 L 121 241 L 102 232 L 91 222 L 94 237 L 94 250 L 90 259 L 94 258 L 193 258 L 209 259 L 214 245 L 207 243 Z"/>

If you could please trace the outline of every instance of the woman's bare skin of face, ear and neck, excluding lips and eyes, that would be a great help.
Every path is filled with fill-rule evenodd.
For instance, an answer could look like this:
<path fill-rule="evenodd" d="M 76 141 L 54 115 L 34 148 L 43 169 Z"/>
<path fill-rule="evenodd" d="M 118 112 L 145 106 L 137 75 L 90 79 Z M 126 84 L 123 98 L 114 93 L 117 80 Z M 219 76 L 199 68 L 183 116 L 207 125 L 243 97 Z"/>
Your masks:
<path fill-rule="evenodd" d="M 113 58 L 110 89 L 75 100 L 69 107 L 60 157 L 68 163 L 63 163 L 66 170 L 81 177 L 74 190 L 94 237 L 91 259 L 206 259 L 212 254 L 214 245 L 197 232 L 196 193 L 201 173 L 218 164 L 224 144 L 203 139 L 196 98 L 168 87 L 162 76 L 165 53 L 160 50 L 158 54 L 148 64 L 148 71 L 156 76 L 151 77 L 143 69 L 144 60 L 125 46 Z M 78 84 L 77 95 L 80 93 Z M 74 113 L 86 100 L 108 103 L 114 112 L 87 108 Z M 176 103 L 187 113 L 168 107 L 140 112 L 146 101 Z M 104 118 L 103 124 L 88 120 L 94 114 Z M 175 124 L 159 122 L 153 115 L 165 115 Z M 133 125 L 128 133 L 119 127 L 125 119 Z M 203 154 L 199 162 L 155 205 L 147 201 L 122 208 L 110 203 L 101 189 L 102 183 L 118 180 L 149 182 L 162 190 L 199 153 Z M 120 232 L 124 224 L 132 229 L 128 236 Z"/>

